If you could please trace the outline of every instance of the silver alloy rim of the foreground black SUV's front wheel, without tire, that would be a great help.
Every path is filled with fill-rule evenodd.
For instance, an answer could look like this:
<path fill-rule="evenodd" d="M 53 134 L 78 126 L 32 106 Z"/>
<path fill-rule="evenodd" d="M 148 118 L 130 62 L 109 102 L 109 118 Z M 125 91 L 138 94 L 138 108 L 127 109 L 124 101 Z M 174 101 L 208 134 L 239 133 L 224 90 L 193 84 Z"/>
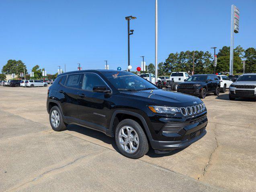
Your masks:
<path fill-rule="evenodd" d="M 123 126 L 118 134 L 119 145 L 127 153 L 134 153 L 139 147 L 139 136 L 130 126 Z"/>

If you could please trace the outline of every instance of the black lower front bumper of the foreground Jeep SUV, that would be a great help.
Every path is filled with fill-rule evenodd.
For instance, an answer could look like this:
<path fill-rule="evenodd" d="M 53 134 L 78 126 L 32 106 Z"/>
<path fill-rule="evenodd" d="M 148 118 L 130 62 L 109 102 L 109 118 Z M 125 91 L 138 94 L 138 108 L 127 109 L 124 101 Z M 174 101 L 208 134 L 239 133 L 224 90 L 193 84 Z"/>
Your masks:
<path fill-rule="evenodd" d="M 167 123 L 173 124 L 174 126 L 180 126 L 181 128 L 177 133 L 166 133 L 161 131 L 160 134 L 162 134 L 162 138 L 164 139 L 162 141 L 152 140 L 150 141 L 150 144 L 155 150 L 171 150 L 184 148 L 205 136 L 205 128 L 207 126 L 207 123 L 208 119 L 206 114 L 203 116 L 199 116 L 199 118 L 188 120 L 186 122 Z"/>

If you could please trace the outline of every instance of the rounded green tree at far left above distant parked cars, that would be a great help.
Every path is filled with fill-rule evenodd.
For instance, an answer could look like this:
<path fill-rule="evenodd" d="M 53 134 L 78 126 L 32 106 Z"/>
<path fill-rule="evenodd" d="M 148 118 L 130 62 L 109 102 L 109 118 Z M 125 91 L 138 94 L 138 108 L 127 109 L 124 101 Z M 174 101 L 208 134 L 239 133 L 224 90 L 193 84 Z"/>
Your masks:
<path fill-rule="evenodd" d="M 21 61 L 21 60 L 8 60 L 6 65 L 3 66 L 2 68 L 2 73 L 4 74 L 12 74 L 15 73 L 18 76 L 20 76 L 20 73 L 25 73 L 27 74 L 27 66 Z"/>

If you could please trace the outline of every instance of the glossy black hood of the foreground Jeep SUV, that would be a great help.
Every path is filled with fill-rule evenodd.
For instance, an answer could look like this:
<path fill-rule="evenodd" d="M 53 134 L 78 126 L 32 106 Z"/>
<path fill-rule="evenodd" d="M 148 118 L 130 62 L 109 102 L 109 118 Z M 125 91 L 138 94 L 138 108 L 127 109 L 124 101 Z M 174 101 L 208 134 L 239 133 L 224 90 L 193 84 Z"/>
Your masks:
<path fill-rule="evenodd" d="M 139 100 L 147 100 L 147 102 L 160 106 L 183 107 L 202 102 L 200 98 L 195 96 L 162 89 L 154 89 L 153 92 L 152 90 L 125 92 L 124 94 Z"/>

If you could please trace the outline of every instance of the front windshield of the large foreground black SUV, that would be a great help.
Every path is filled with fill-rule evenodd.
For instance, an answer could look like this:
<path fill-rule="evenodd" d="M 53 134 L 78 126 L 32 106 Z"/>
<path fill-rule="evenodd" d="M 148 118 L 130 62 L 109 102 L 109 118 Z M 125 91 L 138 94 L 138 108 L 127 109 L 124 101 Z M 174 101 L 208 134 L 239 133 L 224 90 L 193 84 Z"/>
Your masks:
<path fill-rule="evenodd" d="M 104 72 L 103 74 L 118 90 L 137 91 L 144 89 L 157 89 L 157 87 L 152 83 L 131 72 L 109 71 Z"/>

